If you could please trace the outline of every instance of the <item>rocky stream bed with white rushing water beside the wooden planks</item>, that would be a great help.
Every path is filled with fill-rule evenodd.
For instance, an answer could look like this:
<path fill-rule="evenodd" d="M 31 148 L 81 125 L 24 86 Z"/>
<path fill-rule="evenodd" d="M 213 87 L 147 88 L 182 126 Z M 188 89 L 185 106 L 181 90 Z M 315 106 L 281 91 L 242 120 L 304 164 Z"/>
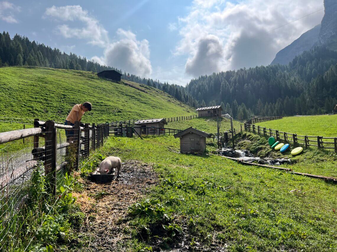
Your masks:
<path fill-rule="evenodd" d="M 230 157 L 230 158 L 237 158 L 238 160 L 245 161 L 245 162 L 256 161 L 262 165 L 291 164 L 290 159 L 286 159 L 286 158 L 271 159 L 271 158 L 254 157 L 254 155 L 251 154 L 247 150 L 234 150 L 234 149 L 223 148 L 222 152 L 220 152 L 220 155 L 225 156 L 225 157 Z"/>

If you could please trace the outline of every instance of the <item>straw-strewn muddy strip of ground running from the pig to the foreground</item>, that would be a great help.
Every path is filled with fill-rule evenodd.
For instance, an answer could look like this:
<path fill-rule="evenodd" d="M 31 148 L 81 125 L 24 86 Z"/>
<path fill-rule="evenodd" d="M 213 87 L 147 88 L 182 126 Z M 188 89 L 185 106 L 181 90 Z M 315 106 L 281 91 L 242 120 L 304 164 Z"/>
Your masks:
<path fill-rule="evenodd" d="M 73 195 L 86 214 L 79 238 L 90 237 L 81 251 L 124 251 L 118 244 L 130 238 L 123 233 L 128 226 L 128 222 L 123 221 L 128 207 L 139 201 L 156 183 L 158 175 L 153 168 L 133 160 L 122 165 L 118 181 L 105 184 L 85 181 L 86 190 Z"/>

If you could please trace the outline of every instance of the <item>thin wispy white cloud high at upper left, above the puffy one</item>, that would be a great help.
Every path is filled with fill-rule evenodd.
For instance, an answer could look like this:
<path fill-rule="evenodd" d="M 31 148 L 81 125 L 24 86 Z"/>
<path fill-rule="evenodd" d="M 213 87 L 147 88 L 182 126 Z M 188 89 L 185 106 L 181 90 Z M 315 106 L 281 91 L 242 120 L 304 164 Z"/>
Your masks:
<path fill-rule="evenodd" d="M 80 5 L 52 6 L 44 13 L 44 18 L 47 17 L 53 17 L 62 22 L 80 21 L 84 23 L 85 26 L 80 28 L 72 28 L 67 24 L 57 26 L 57 31 L 65 38 L 87 39 L 89 44 L 101 47 L 109 44 L 108 31 Z"/>

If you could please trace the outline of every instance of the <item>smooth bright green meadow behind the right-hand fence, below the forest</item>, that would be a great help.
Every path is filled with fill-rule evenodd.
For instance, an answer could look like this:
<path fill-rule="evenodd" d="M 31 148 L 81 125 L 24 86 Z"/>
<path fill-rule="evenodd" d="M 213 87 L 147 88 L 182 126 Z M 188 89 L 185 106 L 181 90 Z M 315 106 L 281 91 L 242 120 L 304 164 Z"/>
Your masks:
<path fill-rule="evenodd" d="M 262 127 L 308 136 L 337 136 L 337 115 L 284 117 L 279 120 L 256 123 Z"/>

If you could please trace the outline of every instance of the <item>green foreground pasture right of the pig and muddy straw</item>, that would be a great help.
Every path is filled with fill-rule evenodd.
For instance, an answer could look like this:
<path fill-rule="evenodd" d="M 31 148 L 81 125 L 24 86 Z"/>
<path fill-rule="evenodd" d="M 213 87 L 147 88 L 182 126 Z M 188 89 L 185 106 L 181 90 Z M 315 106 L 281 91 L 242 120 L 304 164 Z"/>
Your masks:
<path fill-rule="evenodd" d="M 102 151 L 122 160 L 154 165 L 160 183 L 146 197 L 157 199 L 162 208 L 144 201 L 139 208 L 153 207 L 167 213 L 168 218 L 183 227 L 183 238 L 171 238 L 185 239 L 191 251 L 201 245 L 215 251 L 337 248 L 334 184 L 264 167 L 243 166 L 219 156 L 180 154 L 179 140 L 173 136 L 144 140 L 110 138 Z M 160 241 L 171 244 L 171 238 L 165 238 L 167 234 L 158 234 L 160 223 L 156 215 L 141 213 L 127 216 L 130 225 L 126 225 L 129 227 L 125 232 L 132 237 L 119 246 L 157 246 Z M 142 230 L 146 230 L 148 240 L 143 239 Z"/>

